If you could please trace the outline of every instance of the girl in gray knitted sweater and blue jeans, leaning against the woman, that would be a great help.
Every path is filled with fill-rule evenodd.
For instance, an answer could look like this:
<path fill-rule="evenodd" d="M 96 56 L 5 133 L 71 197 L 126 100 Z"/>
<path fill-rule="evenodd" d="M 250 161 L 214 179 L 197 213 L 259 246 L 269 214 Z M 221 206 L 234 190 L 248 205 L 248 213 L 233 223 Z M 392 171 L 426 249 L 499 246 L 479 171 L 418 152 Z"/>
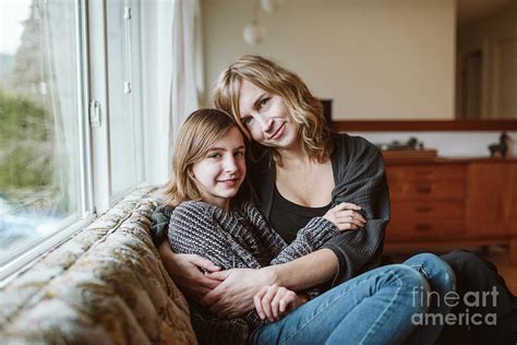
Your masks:
<path fill-rule="evenodd" d="M 360 207 L 340 203 L 311 218 L 288 246 L 250 201 L 245 150 L 240 129 L 223 111 L 197 110 L 183 123 L 166 188 L 166 205 L 175 207 L 169 243 L 176 253 L 200 255 L 224 270 L 267 269 L 308 255 L 339 234 L 364 230 Z M 429 284 L 443 288 L 441 294 L 454 285 L 435 257 L 413 261 L 425 262 L 442 278 L 428 283 L 407 265 L 389 265 L 321 296 L 317 288 L 265 285 L 253 298 L 254 309 L 233 319 L 218 317 L 189 296 L 192 323 L 202 344 L 402 343 L 416 326 L 411 318 L 428 310 L 420 301 Z"/>

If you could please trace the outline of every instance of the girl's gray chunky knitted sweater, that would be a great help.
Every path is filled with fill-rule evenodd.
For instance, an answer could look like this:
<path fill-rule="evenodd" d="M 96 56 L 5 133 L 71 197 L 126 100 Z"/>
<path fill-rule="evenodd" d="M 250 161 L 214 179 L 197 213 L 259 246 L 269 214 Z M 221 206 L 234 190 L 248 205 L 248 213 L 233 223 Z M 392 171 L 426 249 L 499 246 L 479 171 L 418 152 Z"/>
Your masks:
<path fill-rule="evenodd" d="M 173 252 L 197 254 L 223 270 L 260 269 L 292 261 L 337 235 L 339 230 L 330 222 L 315 217 L 287 246 L 252 203 L 242 203 L 226 213 L 205 202 L 188 201 L 175 209 L 169 224 Z M 255 310 L 228 320 L 192 299 L 189 302 L 201 344 L 244 344 L 251 332 L 264 323 Z"/>

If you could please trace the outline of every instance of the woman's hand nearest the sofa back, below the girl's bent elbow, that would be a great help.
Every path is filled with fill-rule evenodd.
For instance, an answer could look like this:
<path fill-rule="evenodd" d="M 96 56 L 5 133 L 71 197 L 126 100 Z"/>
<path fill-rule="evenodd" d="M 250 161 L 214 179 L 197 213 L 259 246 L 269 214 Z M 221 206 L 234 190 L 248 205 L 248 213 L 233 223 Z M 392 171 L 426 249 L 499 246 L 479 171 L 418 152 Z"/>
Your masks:
<path fill-rule="evenodd" d="M 220 270 L 212 261 L 195 254 L 176 254 L 167 241 L 158 249 L 165 269 L 183 294 L 201 299 L 221 283 L 204 273 Z"/>

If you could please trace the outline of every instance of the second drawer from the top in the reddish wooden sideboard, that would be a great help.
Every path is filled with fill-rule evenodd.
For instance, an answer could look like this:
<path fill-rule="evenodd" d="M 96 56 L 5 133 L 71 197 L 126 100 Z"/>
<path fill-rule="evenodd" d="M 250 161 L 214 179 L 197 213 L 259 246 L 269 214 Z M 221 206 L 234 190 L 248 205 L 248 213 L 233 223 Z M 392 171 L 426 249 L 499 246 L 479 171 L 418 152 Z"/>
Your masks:
<path fill-rule="evenodd" d="M 388 181 L 393 201 L 462 200 L 466 197 L 465 181 Z"/>

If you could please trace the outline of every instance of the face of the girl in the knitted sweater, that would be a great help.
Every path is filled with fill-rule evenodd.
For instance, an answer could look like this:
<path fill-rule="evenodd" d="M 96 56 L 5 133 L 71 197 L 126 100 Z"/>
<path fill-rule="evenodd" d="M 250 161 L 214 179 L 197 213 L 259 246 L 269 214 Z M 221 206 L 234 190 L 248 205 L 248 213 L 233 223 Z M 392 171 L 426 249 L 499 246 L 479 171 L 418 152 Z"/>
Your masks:
<path fill-rule="evenodd" d="M 237 127 L 214 143 L 192 167 L 203 201 L 228 210 L 245 177 L 244 139 Z"/>

